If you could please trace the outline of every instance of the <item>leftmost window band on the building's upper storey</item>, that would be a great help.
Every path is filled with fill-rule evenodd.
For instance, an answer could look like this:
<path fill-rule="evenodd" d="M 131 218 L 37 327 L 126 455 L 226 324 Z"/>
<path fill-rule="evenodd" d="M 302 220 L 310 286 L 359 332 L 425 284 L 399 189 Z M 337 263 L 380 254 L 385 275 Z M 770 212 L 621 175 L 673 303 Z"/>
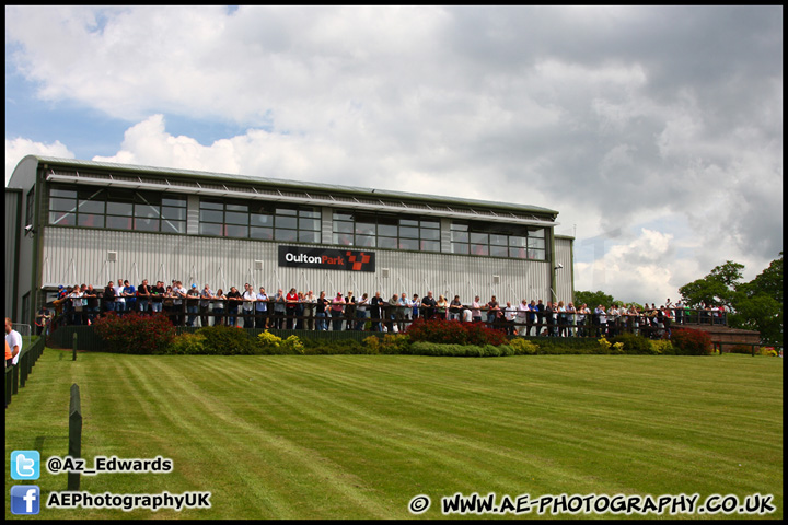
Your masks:
<path fill-rule="evenodd" d="M 186 198 L 120 188 L 53 186 L 49 224 L 186 233 Z"/>

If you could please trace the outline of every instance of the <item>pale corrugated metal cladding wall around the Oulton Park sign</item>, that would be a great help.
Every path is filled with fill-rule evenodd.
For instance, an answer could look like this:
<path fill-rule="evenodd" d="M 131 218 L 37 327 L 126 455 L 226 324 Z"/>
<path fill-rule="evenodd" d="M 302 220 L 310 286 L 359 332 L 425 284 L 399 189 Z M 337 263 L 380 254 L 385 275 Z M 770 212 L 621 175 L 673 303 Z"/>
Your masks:
<path fill-rule="evenodd" d="M 556 250 L 570 257 L 565 245 L 556 242 Z M 135 287 L 142 279 L 162 280 L 166 284 L 177 279 L 185 285 L 196 283 L 202 288 L 207 283 L 225 292 L 231 285 L 242 289 L 248 282 L 269 292 L 296 288 L 334 295 L 352 290 L 360 296 L 380 291 L 385 298 L 402 292 L 424 296 L 431 290 L 436 296 L 457 294 L 463 303 L 473 301 L 475 294 L 484 301 L 497 295 L 503 303 L 522 299 L 548 301 L 551 296 L 548 261 L 375 249 L 375 272 L 337 271 L 279 267 L 278 246 L 270 242 L 193 235 L 48 228 L 40 282 L 97 288 L 117 279 L 128 279 Z M 108 260 L 109 252 L 117 254 L 116 260 Z M 258 260 L 262 265 L 255 264 Z M 571 261 L 566 260 L 564 266 L 558 278 L 568 281 L 558 282 L 559 293 L 571 290 Z"/>

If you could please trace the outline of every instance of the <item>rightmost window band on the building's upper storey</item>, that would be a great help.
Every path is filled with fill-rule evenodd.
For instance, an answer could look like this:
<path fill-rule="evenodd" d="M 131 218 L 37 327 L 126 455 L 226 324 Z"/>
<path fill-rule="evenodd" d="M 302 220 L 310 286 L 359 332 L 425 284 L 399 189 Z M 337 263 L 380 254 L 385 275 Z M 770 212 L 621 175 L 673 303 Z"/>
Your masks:
<path fill-rule="evenodd" d="M 455 221 L 450 231 L 452 254 L 514 259 L 547 258 L 544 228 Z"/>

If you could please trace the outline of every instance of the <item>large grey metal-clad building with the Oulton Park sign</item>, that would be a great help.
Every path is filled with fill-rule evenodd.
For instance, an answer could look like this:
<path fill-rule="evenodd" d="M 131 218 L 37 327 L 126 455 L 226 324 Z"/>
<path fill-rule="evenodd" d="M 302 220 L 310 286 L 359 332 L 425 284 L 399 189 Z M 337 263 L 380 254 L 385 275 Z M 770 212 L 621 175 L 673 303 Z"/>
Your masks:
<path fill-rule="evenodd" d="M 5 188 L 5 312 L 59 284 L 248 282 L 269 292 L 572 296 L 557 211 L 219 173 L 24 158 Z"/>

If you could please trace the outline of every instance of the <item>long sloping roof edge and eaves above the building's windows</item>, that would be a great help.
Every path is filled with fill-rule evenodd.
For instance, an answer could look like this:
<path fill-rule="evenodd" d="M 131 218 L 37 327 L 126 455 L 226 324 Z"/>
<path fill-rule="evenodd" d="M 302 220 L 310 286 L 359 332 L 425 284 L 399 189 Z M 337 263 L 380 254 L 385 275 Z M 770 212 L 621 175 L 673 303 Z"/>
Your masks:
<path fill-rule="evenodd" d="M 146 185 L 162 185 L 161 188 L 148 188 L 160 190 L 189 190 L 197 194 L 213 194 L 230 197 L 254 198 L 259 195 L 260 198 L 274 198 L 274 200 L 294 201 L 297 195 L 306 195 L 308 200 L 312 200 L 314 205 L 323 206 L 368 206 L 376 203 L 392 202 L 401 203 L 405 209 L 409 209 L 408 203 L 418 203 L 419 206 L 430 208 L 430 205 L 443 208 L 441 214 L 447 214 L 447 209 L 453 211 L 452 207 L 471 209 L 474 213 L 478 213 L 479 220 L 489 220 L 489 214 L 496 215 L 498 212 L 508 212 L 512 217 L 532 217 L 535 222 L 545 223 L 545 219 L 549 217 L 549 221 L 555 221 L 557 211 L 547 208 L 524 206 L 511 202 L 495 202 L 479 199 L 466 199 L 460 197 L 447 197 L 426 194 L 414 194 L 407 191 L 393 191 L 375 188 L 363 188 L 354 186 L 344 186 L 325 183 L 305 183 L 299 180 L 286 180 L 279 178 L 258 177 L 248 175 L 235 175 L 216 172 L 199 172 L 193 170 L 178 170 L 169 167 L 140 166 L 130 164 L 116 164 L 108 162 L 96 162 L 74 159 L 59 159 L 51 156 L 28 155 L 27 159 L 37 160 L 39 165 L 51 168 L 51 180 L 78 182 L 82 184 L 101 184 L 105 186 L 134 186 L 146 187 Z M 73 175 L 56 174 L 55 167 L 73 168 L 78 174 Z M 79 176 L 79 170 L 93 172 L 90 177 Z M 96 178 L 95 172 L 111 172 L 104 177 Z M 113 173 L 116 175 L 113 177 Z M 134 177 L 137 176 L 137 182 Z M 166 180 L 164 185 L 163 182 Z M 172 184 L 171 184 L 172 182 Z M 187 185 L 186 188 L 182 186 Z M 259 191 L 257 191 L 259 189 Z M 287 194 L 285 194 L 286 191 Z M 331 196 L 332 201 L 326 201 L 326 196 Z M 278 197 L 278 198 L 277 198 Z M 336 197 L 336 198 L 335 198 Z M 340 200 L 337 200 L 340 199 Z M 322 200 L 322 201 L 321 201 Z M 397 209 L 392 211 L 406 211 Z M 412 210 L 413 211 L 413 210 Z M 438 211 L 438 210 L 436 210 Z M 466 212 L 463 212 L 466 214 Z M 473 219 L 473 213 L 471 217 Z M 517 221 L 520 222 L 520 221 Z M 555 225 L 555 223 L 552 223 Z"/>

